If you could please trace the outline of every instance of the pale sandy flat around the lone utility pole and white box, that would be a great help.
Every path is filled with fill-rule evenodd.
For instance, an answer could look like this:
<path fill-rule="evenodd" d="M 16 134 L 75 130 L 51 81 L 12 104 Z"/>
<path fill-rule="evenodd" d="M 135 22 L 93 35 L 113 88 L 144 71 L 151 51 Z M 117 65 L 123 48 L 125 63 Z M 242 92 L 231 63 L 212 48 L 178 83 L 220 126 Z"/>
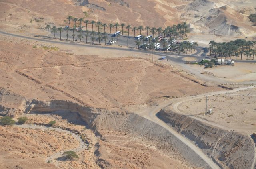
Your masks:
<path fill-rule="evenodd" d="M 204 116 L 205 98 L 180 104 L 182 112 L 196 115 L 223 126 L 242 128 L 248 132 L 256 130 L 256 88 L 208 97 L 208 109 L 213 113 Z M 234 126 L 235 124 L 235 126 Z"/>

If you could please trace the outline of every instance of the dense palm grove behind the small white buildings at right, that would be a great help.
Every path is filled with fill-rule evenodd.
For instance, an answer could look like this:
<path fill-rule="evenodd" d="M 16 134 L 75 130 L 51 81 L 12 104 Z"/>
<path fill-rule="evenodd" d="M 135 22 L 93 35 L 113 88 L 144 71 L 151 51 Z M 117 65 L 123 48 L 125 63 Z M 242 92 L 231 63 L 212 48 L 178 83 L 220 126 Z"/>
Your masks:
<path fill-rule="evenodd" d="M 252 57 L 254 59 L 254 55 L 256 55 L 256 41 L 246 41 L 245 39 L 236 39 L 235 41 L 217 43 L 215 41 L 210 41 L 210 55 L 214 55 L 214 57 L 240 57 L 242 60 L 243 56 Z"/>

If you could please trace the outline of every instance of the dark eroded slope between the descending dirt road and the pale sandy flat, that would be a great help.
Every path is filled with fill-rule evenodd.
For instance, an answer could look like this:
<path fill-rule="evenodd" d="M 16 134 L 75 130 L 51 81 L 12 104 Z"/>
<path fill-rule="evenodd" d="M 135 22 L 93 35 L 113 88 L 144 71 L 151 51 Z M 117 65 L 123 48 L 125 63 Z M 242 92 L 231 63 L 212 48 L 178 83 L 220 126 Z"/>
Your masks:
<path fill-rule="evenodd" d="M 254 143 L 248 136 L 206 125 L 168 109 L 161 110 L 157 116 L 193 141 L 222 168 L 251 169 Z"/>

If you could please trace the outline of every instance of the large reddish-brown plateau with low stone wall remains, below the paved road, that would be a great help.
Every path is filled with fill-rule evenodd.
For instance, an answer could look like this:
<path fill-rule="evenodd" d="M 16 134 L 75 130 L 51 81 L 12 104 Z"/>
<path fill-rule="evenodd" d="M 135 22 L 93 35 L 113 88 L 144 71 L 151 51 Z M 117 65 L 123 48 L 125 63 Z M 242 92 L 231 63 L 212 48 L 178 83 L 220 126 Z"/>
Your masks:
<path fill-rule="evenodd" d="M 144 104 L 164 95 L 186 96 L 220 90 L 185 79 L 158 60 L 152 63 L 137 57 L 101 59 L 97 55 L 70 55 L 13 40 L 0 42 L 4 79 L 1 86 L 26 98 L 72 100 L 107 108 Z M 102 57 L 118 57 L 118 54 L 110 51 Z"/>

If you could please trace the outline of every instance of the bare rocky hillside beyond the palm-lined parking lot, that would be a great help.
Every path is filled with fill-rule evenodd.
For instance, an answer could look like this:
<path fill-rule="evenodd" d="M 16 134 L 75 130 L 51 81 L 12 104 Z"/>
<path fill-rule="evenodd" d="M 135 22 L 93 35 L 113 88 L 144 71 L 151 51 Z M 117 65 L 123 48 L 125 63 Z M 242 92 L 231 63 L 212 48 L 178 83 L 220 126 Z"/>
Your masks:
<path fill-rule="evenodd" d="M 83 1 L 85 3 L 82 3 Z M 45 35 L 42 31 L 45 23 L 57 27 L 65 26 L 68 22 L 64 20 L 68 15 L 72 15 L 107 24 L 124 22 L 126 25 L 137 27 L 142 25 L 164 28 L 188 22 L 193 35 L 191 40 L 204 45 L 212 40 L 212 37 L 209 39 L 209 34 L 213 35 L 214 28 L 217 28 L 216 36 L 221 37 L 220 41 L 234 37 L 253 39 L 256 32 L 256 27 L 252 26 L 248 18 L 251 13 L 255 13 L 253 0 L 247 0 L 246 3 L 242 0 L 94 0 L 88 1 L 88 4 L 86 1 L 77 3 L 77 0 L 3 0 L 0 2 L 0 10 L 6 10 L 6 21 L 4 15 L 0 15 L 0 29 L 25 35 Z M 83 12 L 86 12 L 86 15 Z M 92 29 L 91 27 L 88 26 L 89 29 Z M 110 31 L 109 28 L 106 30 Z M 112 31 L 115 31 L 114 28 Z M 142 33 L 145 34 L 146 31 Z M 208 42 L 204 39 L 208 39 Z"/>

